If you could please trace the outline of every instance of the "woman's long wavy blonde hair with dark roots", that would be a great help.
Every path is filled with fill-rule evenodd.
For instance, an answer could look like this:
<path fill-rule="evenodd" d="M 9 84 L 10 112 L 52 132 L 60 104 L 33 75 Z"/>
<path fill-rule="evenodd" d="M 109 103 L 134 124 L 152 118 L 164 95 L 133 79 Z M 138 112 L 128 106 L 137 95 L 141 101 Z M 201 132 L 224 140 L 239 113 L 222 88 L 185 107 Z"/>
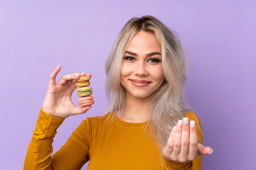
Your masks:
<path fill-rule="evenodd" d="M 129 42 L 139 30 L 154 33 L 161 45 L 164 82 L 154 93 L 149 121 L 145 123 L 144 128 L 151 141 L 159 145 L 159 149 L 162 150 L 177 120 L 182 119 L 189 111 L 183 97 L 183 86 L 186 83 L 186 55 L 174 30 L 167 28 L 153 16 L 130 19 L 114 42 L 105 65 L 106 92 L 110 101 L 107 113 L 110 112 L 110 118 L 114 111 L 122 110 L 125 106 L 125 89 L 120 83 L 122 58 Z"/>

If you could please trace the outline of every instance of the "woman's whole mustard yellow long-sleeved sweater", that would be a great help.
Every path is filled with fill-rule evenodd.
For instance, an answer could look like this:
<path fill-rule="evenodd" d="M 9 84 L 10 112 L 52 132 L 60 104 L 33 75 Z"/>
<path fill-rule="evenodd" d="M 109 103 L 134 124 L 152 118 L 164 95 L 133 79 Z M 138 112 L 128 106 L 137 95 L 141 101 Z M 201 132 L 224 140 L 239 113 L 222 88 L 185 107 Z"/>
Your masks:
<path fill-rule="evenodd" d="M 196 120 L 201 127 L 194 113 L 186 117 Z M 83 120 L 65 145 L 51 156 L 53 137 L 63 120 L 41 109 L 28 145 L 24 169 L 75 170 L 89 160 L 89 170 L 201 169 L 202 157 L 185 163 L 164 159 L 163 168 L 159 147 L 146 136 L 143 123 L 127 123 L 117 117 L 112 123 L 105 123 L 104 118 L 99 117 Z M 198 137 L 203 140 L 201 132 Z"/>

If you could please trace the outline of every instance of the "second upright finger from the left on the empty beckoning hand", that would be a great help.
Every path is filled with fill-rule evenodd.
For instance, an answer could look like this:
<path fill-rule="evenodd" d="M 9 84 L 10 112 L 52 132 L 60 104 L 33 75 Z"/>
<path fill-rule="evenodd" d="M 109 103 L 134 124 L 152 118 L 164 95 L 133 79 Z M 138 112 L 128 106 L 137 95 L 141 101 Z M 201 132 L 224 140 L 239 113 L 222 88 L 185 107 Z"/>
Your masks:
<path fill-rule="evenodd" d="M 178 158 L 181 152 L 181 134 L 182 134 L 182 120 L 178 120 L 177 127 L 174 135 L 174 150 L 171 154 L 172 157 Z"/>

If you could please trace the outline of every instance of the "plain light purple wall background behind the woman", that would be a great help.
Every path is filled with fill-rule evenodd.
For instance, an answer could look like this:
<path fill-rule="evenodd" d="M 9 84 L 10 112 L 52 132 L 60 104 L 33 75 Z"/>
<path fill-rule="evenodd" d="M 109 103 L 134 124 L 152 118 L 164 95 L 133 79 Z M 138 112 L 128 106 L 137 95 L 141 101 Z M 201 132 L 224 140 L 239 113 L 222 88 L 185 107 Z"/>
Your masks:
<path fill-rule="evenodd" d="M 22 169 L 50 72 L 92 74 L 95 105 L 66 119 L 56 152 L 87 116 L 101 115 L 105 61 L 129 18 L 152 15 L 180 35 L 191 62 L 186 99 L 213 154 L 202 169 L 256 169 L 256 2 L 205 0 L 0 2 L 0 169 Z M 73 95 L 78 105 L 78 97 Z M 86 169 L 84 166 L 83 169 Z"/>

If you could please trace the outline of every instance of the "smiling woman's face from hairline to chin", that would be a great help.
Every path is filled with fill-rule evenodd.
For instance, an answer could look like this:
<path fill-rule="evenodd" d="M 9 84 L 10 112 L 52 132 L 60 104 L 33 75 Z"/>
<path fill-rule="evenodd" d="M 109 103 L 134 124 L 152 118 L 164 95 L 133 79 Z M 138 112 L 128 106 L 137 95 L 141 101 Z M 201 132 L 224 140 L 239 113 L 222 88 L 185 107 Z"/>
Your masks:
<path fill-rule="evenodd" d="M 161 47 L 153 33 L 140 30 L 129 43 L 121 67 L 127 97 L 148 98 L 164 81 Z"/>

